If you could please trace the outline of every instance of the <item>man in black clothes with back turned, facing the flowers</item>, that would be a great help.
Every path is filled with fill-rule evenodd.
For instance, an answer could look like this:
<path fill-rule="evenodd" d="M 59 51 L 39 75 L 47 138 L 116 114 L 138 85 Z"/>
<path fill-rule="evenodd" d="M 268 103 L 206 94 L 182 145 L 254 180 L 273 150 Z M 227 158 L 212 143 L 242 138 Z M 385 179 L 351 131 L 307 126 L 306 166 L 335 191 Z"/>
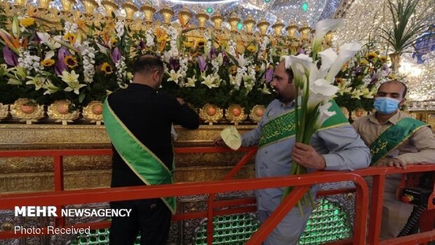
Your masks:
<path fill-rule="evenodd" d="M 143 55 L 135 61 L 133 83 L 107 98 L 103 116 L 113 145 L 112 187 L 172 183 L 171 125 L 199 127 L 184 100 L 157 91 L 162 79 L 163 62 Z M 111 207 L 132 211 L 112 217 L 110 244 L 133 244 L 138 231 L 140 244 L 166 244 L 175 199 L 116 201 Z"/>

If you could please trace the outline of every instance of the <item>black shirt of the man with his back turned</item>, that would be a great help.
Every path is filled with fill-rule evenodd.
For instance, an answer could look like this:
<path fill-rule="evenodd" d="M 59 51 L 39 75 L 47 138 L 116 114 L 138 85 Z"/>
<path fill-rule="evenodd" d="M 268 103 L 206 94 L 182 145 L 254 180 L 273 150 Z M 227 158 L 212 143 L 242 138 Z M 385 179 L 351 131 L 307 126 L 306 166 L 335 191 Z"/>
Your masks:
<path fill-rule="evenodd" d="M 144 84 L 130 84 L 109 95 L 109 105 L 123 124 L 172 169 L 173 149 L 170 127 L 180 124 L 189 129 L 199 127 L 198 114 L 164 92 Z M 145 185 L 113 148 L 112 187 Z M 144 164 L 147 164 L 144 162 Z"/>

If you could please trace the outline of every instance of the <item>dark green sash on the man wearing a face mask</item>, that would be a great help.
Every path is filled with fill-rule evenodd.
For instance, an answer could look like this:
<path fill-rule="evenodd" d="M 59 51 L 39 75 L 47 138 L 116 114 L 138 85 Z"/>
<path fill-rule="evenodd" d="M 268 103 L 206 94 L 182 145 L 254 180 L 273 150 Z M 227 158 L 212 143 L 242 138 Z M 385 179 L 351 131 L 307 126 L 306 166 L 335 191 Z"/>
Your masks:
<path fill-rule="evenodd" d="M 396 149 L 401 143 L 408 140 L 415 131 L 424 126 L 427 126 L 427 124 L 422 121 L 405 117 L 400 119 L 396 125 L 386 128 L 370 145 L 370 154 L 372 156 L 370 166 L 376 166 L 379 159 L 387 156 L 389 152 Z"/>

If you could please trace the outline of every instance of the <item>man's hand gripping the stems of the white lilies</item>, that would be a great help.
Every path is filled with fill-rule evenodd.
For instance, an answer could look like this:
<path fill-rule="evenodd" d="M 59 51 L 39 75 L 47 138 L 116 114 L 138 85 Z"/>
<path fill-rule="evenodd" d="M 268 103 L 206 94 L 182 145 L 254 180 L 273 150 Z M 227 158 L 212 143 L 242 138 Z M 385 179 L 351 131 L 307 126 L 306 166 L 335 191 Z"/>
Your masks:
<path fill-rule="evenodd" d="M 305 168 L 326 168 L 325 159 L 311 145 L 296 143 L 295 147 L 293 147 L 292 158 Z"/>

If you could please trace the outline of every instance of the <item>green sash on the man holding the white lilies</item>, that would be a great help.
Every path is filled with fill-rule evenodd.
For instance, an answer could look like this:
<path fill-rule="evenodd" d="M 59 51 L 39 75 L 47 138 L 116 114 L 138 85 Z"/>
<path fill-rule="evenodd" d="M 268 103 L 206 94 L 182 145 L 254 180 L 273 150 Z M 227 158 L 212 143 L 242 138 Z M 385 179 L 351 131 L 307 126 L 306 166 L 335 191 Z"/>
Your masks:
<path fill-rule="evenodd" d="M 334 100 L 331 100 L 330 102 L 332 102 L 333 105 L 329 108 L 329 111 L 334 111 L 336 113 L 333 117 L 326 119 L 318 131 L 349 124 L 349 121 L 346 117 L 344 117 L 344 114 L 340 110 L 340 107 L 337 105 L 337 103 L 335 103 Z M 295 110 L 293 109 L 289 112 L 281 114 L 279 117 L 276 117 L 271 121 L 268 121 L 267 124 L 263 126 L 260 133 L 260 142 L 258 143 L 258 147 L 263 147 L 278 141 L 287 140 L 289 138 L 295 137 L 295 135 Z"/>

